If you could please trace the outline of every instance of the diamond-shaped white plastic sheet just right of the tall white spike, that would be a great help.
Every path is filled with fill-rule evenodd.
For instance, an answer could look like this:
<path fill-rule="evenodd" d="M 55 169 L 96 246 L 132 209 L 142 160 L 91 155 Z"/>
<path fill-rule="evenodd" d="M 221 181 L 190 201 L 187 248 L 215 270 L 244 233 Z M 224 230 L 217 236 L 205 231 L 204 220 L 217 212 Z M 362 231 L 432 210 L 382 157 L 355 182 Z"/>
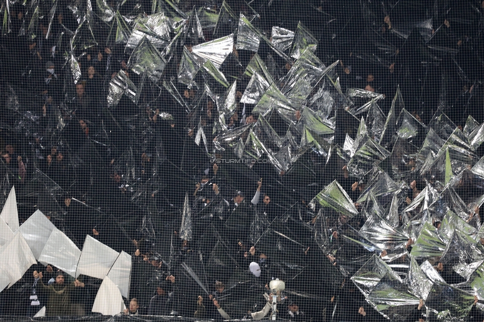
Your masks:
<path fill-rule="evenodd" d="M 29 244 L 36 260 L 39 259 L 49 236 L 55 228 L 56 226 L 40 210 L 33 213 L 20 226 L 19 231 Z"/>

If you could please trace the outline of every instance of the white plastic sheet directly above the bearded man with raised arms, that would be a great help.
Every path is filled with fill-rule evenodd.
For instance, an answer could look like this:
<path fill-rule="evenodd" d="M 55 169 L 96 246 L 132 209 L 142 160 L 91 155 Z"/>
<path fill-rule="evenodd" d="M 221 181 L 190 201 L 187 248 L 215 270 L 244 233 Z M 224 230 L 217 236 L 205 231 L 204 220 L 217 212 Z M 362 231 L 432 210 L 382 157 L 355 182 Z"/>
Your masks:
<path fill-rule="evenodd" d="M 76 277 L 75 271 L 81 251 L 63 232 L 55 228 L 39 257 L 39 262 L 51 264 L 63 270 L 72 277 Z"/>

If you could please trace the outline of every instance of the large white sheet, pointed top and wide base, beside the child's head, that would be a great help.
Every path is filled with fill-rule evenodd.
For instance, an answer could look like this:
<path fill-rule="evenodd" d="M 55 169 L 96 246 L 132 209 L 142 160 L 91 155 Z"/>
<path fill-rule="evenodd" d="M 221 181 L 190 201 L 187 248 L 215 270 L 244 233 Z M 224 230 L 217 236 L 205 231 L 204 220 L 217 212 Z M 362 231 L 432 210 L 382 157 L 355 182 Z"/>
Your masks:
<path fill-rule="evenodd" d="M 116 284 L 108 277 L 103 280 L 99 287 L 96 299 L 92 306 L 92 312 L 102 315 L 115 316 L 126 309 L 122 300 L 121 292 Z"/>

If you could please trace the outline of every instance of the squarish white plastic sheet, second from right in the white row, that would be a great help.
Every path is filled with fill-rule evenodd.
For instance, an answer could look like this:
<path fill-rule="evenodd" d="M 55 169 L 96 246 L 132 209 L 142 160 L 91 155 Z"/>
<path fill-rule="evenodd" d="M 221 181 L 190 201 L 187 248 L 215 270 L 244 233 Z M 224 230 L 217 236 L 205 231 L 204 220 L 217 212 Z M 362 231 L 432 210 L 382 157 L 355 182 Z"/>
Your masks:
<path fill-rule="evenodd" d="M 104 279 L 118 256 L 120 253 L 88 235 L 77 263 L 76 277 L 84 274 Z"/>

